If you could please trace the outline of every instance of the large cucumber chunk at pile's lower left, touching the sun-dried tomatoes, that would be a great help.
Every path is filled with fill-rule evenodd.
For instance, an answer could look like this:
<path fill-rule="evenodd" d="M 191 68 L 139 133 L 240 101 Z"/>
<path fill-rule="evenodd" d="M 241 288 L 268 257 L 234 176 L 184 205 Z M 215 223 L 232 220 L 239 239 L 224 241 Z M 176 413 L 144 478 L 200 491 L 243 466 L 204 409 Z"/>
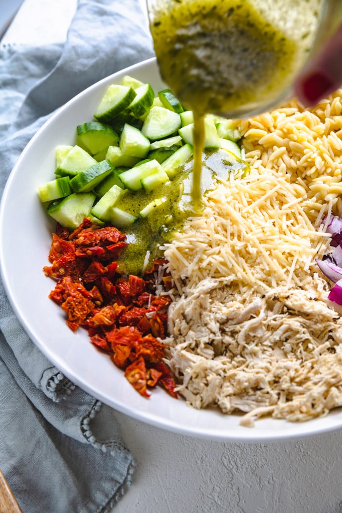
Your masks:
<path fill-rule="evenodd" d="M 50 204 L 47 212 L 57 223 L 75 229 L 84 218 L 89 217 L 95 198 L 93 192 L 75 192 Z"/>

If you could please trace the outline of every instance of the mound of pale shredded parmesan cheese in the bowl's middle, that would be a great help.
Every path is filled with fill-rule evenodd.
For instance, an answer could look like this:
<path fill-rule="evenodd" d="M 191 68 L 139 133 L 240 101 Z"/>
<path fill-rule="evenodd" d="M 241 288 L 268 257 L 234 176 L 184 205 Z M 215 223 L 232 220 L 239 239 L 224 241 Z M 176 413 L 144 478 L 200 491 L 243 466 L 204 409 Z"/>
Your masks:
<path fill-rule="evenodd" d="M 204 207 L 165 247 L 169 270 L 190 289 L 222 276 L 241 291 L 300 286 L 329 245 L 330 235 L 306 213 L 303 188 L 273 169 L 252 168 L 245 178 L 218 184 Z"/>

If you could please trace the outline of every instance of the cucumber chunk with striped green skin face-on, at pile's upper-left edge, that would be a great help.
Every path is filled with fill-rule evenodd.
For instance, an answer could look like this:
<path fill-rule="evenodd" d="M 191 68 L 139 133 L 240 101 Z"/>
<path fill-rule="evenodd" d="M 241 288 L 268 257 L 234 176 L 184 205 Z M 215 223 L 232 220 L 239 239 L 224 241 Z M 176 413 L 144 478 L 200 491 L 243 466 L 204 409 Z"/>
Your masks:
<path fill-rule="evenodd" d="M 77 139 L 92 155 L 117 143 L 119 136 L 110 126 L 98 121 L 89 121 L 76 127 Z"/>

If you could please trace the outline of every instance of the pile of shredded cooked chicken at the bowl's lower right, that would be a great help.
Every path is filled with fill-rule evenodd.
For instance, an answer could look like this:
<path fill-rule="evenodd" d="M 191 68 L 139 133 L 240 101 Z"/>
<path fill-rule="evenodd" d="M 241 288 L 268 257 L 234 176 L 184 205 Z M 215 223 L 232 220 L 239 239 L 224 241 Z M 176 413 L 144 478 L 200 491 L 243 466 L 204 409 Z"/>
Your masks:
<path fill-rule="evenodd" d="M 208 278 L 171 306 L 169 364 L 195 408 L 304 421 L 342 405 L 342 319 L 318 274 L 303 288 L 240 294 Z"/>

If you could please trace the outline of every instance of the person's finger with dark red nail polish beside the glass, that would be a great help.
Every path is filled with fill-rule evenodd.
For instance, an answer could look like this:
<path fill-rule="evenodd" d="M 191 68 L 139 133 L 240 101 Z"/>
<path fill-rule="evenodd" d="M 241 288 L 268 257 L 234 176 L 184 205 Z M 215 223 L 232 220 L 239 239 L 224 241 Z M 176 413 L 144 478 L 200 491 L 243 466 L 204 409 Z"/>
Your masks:
<path fill-rule="evenodd" d="M 316 105 L 342 85 L 342 25 L 296 78 L 294 92 L 305 106 Z"/>

